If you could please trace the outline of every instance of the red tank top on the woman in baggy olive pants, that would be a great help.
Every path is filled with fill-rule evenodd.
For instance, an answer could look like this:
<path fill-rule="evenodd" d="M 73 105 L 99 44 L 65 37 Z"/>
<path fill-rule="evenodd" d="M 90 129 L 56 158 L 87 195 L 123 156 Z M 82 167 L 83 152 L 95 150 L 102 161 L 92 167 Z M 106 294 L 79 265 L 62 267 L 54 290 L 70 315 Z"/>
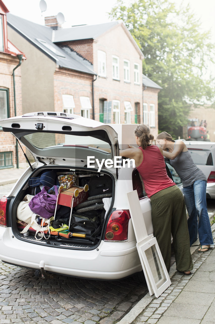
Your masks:
<path fill-rule="evenodd" d="M 142 147 L 139 149 L 143 152 L 143 160 L 137 170 L 143 179 L 147 196 L 150 198 L 156 192 L 174 186 L 175 182 L 167 175 L 164 157 L 158 146 L 149 145 L 145 150 Z"/>

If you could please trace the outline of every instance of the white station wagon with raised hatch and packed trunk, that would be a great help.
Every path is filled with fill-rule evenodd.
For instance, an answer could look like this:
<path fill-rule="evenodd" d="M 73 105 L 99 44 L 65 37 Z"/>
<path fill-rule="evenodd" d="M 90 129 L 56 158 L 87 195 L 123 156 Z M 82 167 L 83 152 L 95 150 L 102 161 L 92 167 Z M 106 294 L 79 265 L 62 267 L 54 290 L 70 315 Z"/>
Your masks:
<path fill-rule="evenodd" d="M 134 273 L 141 277 L 143 272 L 126 193 L 137 189 L 148 234 L 153 233 L 150 199 L 137 169 L 132 165 L 128 167 L 129 161 L 122 168 L 110 168 L 103 163 L 98 172 L 98 163 L 118 156 L 118 137 L 114 129 L 94 120 L 58 112 L 29 113 L 1 120 L 0 125 L 4 132 L 14 134 L 35 159 L 9 195 L 0 200 L 0 259 L 35 269 L 37 274 L 44 269 L 79 278 L 114 280 Z M 88 168 L 87 156 L 91 156 Z M 92 156 L 98 163 L 92 162 Z M 100 229 L 95 237 L 52 235 L 48 238 L 47 235 L 38 240 L 33 231 L 21 234 L 16 219 L 17 206 L 26 194 L 35 193 L 29 180 L 39 178 L 48 170 L 56 175 L 76 174 L 79 186 L 95 175 L 99 180 L 104 175 L 110 178 L 108 190 L 102 190 L 102 193 L 111 192 L 109 205 L 106 211 L 102 205 L 101 212 L 104 215 L 105 211 L 106 215 L 100 218 Z M 84 211 L 86 207 L 85 201 Z M 97 215 L 96 208 L 89 209 Z"/>

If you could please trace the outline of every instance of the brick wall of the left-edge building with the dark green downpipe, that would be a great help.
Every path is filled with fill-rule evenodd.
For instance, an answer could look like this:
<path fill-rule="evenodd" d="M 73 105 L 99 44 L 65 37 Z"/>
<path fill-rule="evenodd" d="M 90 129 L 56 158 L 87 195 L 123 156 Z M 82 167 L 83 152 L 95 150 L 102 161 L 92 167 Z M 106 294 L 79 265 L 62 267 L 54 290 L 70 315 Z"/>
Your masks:
<path fill-rule="evenodd" d="M 19 63 L 16 57 L 6 53 L 0 53 L 0 88 L 8 89 L 10 116 L 14 116 L 14 91 L 13 91 L 13 69 Z M 22 84 L 21 70 L 15 70 L 15 91 L 16 91 L 16 115 L 22 114 Z M 13 152 L 13 165 L 16 165 L 15 138 L 10 133 L 0 130 L 0 152 Z M 21 148 L 18 148 L 19 163 L 25 162 Z"/>

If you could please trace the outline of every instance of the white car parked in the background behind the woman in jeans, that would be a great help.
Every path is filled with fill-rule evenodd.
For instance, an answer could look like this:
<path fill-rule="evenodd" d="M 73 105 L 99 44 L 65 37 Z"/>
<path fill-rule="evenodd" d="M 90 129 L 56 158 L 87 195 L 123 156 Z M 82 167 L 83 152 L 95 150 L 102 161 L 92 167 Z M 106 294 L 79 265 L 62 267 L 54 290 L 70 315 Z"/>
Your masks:
<path fill-rule="evenodd" d="M 184 141 L 194 163 L 207 178 L 206 197 L 215 199 L 215 143 Z"/>

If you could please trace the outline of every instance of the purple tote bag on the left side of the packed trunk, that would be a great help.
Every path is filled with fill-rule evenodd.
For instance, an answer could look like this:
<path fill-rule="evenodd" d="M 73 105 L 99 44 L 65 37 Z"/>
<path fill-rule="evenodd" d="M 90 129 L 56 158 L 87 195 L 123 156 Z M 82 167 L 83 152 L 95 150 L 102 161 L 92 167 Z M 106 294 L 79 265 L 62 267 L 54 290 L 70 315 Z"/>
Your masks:
<path fill-rule="evenodd" d="M 47 191 L 50 189 L 47 186 L 44 186 L 42 191 L 37 193 L 30 201 L 28 206 L 31 211 L 35 214 L 49 218 L 55 214 L 55 207 L 57 202 L 57 186 L 54 186 L 55 194 L 49 194 Z M 57 209 L 60 208 L 60 205 L 57 206 Z"/>

